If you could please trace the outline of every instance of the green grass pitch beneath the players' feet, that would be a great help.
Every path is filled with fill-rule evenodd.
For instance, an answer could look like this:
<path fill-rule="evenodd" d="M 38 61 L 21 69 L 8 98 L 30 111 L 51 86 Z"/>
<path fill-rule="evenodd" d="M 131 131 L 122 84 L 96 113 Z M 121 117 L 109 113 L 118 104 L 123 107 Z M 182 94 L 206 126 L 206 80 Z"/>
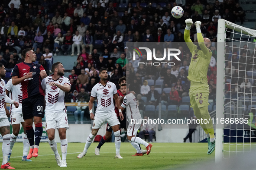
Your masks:
<path fill-rule="evenodd" d="M 78 159 L 78 154 L 83 151 L 84 143 L 68 143 L 67 167 L 70 170 L 163 170 L 186 167 L 206 161 L 213 161 L 215 151 L 207 155 L 207 143 L 152 143 L 149 155 L 132 156 L 136 150 L 128 142 L 121 144 L 120 154 L 123 159 L 114 159 L 115 144 L 105 143 L 100 149 L 100 156 L 94 154 L 98 143 L 92 143 L 87 154 Z M 57 144 L 61 154 L 60 144 Z M 144 148 L 144 147 L 143 147 Z M 2 153 L 2 152 L 1 152 Z M 23 143 L 16 143 L 13 147 L 10 163 L 15 169 L 20 170 L 49 170 L 65 169 L 58 167 L 53 151 L 48 143 L 40 143 L 39 156 L 32 157 L 32 162 L 22 162 Z M 2 155 L 0 155 L 2 157 Z M 61 155 L 62 157 L 62 155 Z M 2 158 L 1 158 L 2 159 Z"/>

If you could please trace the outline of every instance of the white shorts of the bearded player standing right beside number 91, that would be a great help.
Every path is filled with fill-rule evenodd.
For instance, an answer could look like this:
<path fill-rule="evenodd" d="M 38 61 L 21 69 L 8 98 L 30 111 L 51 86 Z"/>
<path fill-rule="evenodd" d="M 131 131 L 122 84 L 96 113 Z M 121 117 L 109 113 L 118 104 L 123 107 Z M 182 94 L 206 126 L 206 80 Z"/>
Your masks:
<path fill-rule="evenodd" d="M 46 130 L 56 128 L 68 129 L 69 126 L 67 113 L 65 111 L 58 113 L 45 113 L 45 128 Z"/>

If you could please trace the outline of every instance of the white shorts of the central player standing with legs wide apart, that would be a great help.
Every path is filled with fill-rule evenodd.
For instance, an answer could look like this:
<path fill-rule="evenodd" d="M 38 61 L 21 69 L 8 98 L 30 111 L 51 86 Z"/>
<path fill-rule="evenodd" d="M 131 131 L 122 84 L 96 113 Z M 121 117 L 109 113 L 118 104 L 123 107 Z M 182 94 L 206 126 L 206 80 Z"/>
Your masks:
<path fill-rule="evenodd" d="M 102 115 L 102 113 L 95 113 L 92 129 L 100 129 L 105 122 L 107 122 L 111 127 L 120 125 L 115 110 L 104 115 Z"/>

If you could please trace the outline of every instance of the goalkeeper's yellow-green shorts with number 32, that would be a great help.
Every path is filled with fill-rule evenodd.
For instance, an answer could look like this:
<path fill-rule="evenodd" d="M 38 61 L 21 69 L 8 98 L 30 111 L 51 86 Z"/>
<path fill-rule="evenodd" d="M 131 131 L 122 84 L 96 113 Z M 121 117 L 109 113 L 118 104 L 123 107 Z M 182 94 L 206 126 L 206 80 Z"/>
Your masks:
<path fill-rule="evenodd" d="M 209 85 L 191 82 L 189 89 L 190 107 L 201 108 L 209 105 Z"/>

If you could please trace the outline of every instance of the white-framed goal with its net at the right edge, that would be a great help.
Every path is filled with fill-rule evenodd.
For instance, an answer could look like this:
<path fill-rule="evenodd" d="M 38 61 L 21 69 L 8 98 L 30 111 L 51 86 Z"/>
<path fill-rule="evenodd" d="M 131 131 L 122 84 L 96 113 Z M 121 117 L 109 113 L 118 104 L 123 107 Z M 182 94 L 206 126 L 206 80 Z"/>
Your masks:
<path fill-rule="evenodd" d="M 256 30 L 218 21 L 215 160 L 256 146 Z"/>

